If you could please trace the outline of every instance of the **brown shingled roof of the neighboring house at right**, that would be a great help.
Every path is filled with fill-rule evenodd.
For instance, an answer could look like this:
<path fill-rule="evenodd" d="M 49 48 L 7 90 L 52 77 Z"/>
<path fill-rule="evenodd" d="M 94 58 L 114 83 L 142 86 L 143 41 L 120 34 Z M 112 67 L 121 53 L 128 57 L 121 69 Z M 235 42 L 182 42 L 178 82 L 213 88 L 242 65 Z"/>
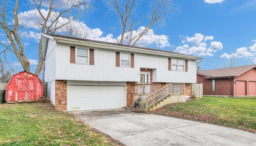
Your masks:
<path fill-rule="evenodd" d="M 219 68 L 214 70 L 197 70 L 197 74 L 205 76 L 205 78 L 234 78 L 252 68 L 256 68 L 256 65 Z"/>

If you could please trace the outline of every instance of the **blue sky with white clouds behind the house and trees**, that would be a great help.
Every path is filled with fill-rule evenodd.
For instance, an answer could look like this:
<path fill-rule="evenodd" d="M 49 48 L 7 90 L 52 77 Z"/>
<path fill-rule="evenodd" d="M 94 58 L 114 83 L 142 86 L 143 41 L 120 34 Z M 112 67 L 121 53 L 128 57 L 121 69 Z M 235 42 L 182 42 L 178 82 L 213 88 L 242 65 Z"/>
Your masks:
<path fill-rule="evenodd" d="M 147 9 L 146 2 L 144 0 L 140 11 Z M 256 64 L 256 0 L 174 2 L 180 5 L 181 14 L 172 17 L 171 21 L 166 21 L 164 27 L 153 28 L 137 45 L 203 57 L 199 64 L 201 70 L 223 68 L 230 56 L 239 58 L 238 66 Z M 82 25 L 88 32 L 88 39 L 116 42 L 120 35 L 118 29 L 113 29 L 117 18 L 106 16 L 108 8 L 102 0 L 96 0 L 93 6 L 94 12 L 85 20 L 78 19 L 74 25 Z M 32 15 L 35 10 L 30 8 L 21 9 L 19 14 L 24 16 L 20 21 L 26 22 L 26 29 L 21 33 L 26 34 L 23 38 L 25 53 L 30 59 L 31 71 L 34 72 L 38 62 L 36 51 L 40 33 Z M 135 30 L 139 31 L 143 27 L 138 25 Z M 4 39 L 4 31 L 0 30 L 0 36 L 2 43 L 8 43 Z M 8 58 L 14 68 L 22 69 L 14 55 L 8 53 Z"/>

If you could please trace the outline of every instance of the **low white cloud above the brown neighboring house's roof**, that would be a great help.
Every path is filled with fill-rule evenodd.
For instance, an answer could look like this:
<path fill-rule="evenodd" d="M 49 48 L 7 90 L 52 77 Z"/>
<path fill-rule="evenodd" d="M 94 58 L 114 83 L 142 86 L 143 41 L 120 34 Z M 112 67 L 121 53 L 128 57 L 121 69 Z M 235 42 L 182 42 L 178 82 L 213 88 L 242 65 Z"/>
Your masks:
<path fill-rule="evenodd" d="M 228 53 L 224 53 L 220 57 L 231 58 L 234 56 L 234 57 L 242 58 L 242 57 L 253 57 L 254 55 L 256 55 L 256 54 L 250 53 L 250 52 L 248 52 L 246 47 L 242 47 L 242 48 L 236 49 L 236 53 L 231 53 L 230 55 L 228 55 Z"/>

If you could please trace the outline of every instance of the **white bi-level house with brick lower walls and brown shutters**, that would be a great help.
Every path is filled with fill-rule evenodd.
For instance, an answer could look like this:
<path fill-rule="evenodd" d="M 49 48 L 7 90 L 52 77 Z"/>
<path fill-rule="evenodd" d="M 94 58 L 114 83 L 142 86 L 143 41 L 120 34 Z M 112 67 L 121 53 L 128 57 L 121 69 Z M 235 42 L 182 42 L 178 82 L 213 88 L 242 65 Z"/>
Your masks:
<path fill-rule="evenodd" d="M 146 109 L 170 95 L 184 102 L 196 83 L 196 60 L 202 59 L 46 33 L 42 54 L 48 98 L 64 111 L 121 108 L 138 97 Z"/>

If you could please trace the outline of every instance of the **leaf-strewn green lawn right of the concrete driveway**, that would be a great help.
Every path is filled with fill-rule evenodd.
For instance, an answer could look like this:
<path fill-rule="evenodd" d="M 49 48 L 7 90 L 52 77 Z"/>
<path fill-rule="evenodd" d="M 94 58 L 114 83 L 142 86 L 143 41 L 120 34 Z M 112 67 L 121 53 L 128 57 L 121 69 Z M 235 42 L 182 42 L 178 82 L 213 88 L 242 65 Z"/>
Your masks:
<path fill-rule="evenodd" d="M 256 97 L 203 97 L 165 105 L 150 113 L 256 133 Z"/>

